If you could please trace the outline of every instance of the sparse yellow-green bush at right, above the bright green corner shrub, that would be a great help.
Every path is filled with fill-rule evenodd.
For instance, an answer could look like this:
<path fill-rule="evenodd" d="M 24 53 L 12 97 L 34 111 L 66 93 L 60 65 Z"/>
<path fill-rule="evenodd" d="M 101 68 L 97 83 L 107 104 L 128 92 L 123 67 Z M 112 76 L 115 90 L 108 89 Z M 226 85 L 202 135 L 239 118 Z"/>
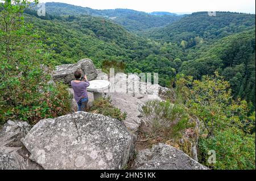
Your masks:
<path fill-rule="evenodd" d="M 185 106 L 191 115 L 195 115 L 203 125 L 202 133 L 208 137 L 229 127 L 249 131 L 251 124 L 245 100 L 233 100 L 229 82 L 218 75 L 205 75 L 201 80 L 193 77 L 180 78 L 177 81 L 178 94 L 181 94 Z"/>

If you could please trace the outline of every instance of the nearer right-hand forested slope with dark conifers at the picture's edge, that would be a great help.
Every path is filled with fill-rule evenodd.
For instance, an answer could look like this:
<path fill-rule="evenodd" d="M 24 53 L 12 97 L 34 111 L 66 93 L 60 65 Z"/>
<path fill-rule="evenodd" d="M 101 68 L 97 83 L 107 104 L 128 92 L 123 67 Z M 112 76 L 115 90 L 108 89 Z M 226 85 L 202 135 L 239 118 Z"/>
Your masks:
<path fill-rule="evenodd" d="M 218 70 L 229 81 L 234 98 L 246 99 L 255 107 L 255 28 L 202 44 L 188 53 L 180 71 L 200 79 Z"/>

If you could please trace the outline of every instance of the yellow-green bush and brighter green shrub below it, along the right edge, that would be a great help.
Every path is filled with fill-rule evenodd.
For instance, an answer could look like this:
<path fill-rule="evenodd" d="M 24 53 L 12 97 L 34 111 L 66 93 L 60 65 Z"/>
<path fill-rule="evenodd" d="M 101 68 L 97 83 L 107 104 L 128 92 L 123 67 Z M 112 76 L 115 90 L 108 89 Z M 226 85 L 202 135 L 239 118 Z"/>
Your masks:
<path fill-rule="evenodd" d="M 218 75 L 178 77 L 177 101 L 199 118 L 200 161 L 213 169 L 255 169 L 255 113 L 246 101 L 234 101 L 229 83 Z M 252 134 L 253 133 L 253 134 Z M 216 151 L 216 164 L 208 164 L 208 151 Z"/>

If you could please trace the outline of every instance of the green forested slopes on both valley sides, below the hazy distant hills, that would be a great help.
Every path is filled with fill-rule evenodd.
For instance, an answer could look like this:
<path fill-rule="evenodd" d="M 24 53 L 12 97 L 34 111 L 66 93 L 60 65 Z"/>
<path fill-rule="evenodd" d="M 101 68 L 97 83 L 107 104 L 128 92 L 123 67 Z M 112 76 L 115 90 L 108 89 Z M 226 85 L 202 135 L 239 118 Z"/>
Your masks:
<path fill-rule="evenodd" d="M 155 32 L 154 37 L 161 35 L 161 39 L 154 40 L 99 16 L 38 18 L 35 11 L 28 13 L 35 28 L 45 32 L 55 64 L 75 63 L 81 57 L 91 58 L 98 68 L 105 61 L 124 62 L 126 72 L 158 72 L 162 86 L 170 85 L 177 73 L 200 79 L 218 70 L 230 81 L 234 98 L 246 99 L 255 107 L 254 15 L 198 12 Z"/>

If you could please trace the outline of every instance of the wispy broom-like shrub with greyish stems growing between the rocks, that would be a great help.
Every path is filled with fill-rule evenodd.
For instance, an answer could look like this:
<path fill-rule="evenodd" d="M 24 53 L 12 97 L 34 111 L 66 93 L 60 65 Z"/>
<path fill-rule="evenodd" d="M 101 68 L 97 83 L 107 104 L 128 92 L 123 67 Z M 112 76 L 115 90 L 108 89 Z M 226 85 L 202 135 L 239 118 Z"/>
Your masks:
<path fill-rule="evenodd" d="M 184 107 L 170 100 L 150 100 L 140 111 L 149 125 L 144 131 L 150 137 L 162 136 L 168 140 L 181 136 L 181 131 L 191 126 Z"/>

